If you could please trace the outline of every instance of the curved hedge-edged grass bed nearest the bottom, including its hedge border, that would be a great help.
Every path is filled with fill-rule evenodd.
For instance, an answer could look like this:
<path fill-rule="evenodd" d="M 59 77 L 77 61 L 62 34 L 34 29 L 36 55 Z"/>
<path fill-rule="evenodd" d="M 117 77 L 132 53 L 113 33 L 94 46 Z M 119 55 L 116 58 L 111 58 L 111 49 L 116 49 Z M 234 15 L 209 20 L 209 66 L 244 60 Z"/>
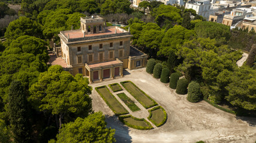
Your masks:
<path fill-rule="evenodd" d="M 138 119 L 131 115 L 119 116 L 118 119 L 127 125 L 128 127 L 139 129 L 139 130 L 148 130 L 153 129 L 153 126 L 150 125 L 145 119 Z"/>

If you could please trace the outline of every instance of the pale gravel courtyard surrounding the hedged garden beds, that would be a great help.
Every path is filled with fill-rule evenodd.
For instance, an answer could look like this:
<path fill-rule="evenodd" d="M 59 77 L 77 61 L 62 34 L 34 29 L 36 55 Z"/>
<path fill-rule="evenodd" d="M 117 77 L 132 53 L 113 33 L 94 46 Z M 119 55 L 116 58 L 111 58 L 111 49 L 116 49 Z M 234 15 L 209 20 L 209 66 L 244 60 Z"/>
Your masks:
<path fill-rule="evenodd" d="M 205 101 L 191 103 L 186 95 L 177 95 L 168 84 L 146 73 L 146 69 L 128 71 L 122 77 L 91 83 L 92 107 L 103 111 L 107 126 L 116 129 L 117 142 L 252 142 L 256 141 L 256 118 L 236 117 L 213 107 Z M 124 72 L 125 73 L 125 72 Z M 137 130 L 123 125 L 95 87 L 131 80 L 167 112 L 167 122 L 152 130 Z"/>

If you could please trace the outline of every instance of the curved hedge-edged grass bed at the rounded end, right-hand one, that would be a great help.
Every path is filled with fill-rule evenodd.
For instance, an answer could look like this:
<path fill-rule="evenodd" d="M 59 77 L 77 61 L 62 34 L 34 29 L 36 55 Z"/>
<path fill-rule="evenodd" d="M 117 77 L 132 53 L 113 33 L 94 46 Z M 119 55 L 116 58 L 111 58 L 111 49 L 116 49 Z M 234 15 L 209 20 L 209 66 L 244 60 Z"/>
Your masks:
<path fill-rule="evenodd" d="M 149 117 L 147 117 L 147 119 L 149 119 L 155 126 L 159 127 L 166 122 L 167 113 L 164 108 L 157 106 L 149 110 Z"/>

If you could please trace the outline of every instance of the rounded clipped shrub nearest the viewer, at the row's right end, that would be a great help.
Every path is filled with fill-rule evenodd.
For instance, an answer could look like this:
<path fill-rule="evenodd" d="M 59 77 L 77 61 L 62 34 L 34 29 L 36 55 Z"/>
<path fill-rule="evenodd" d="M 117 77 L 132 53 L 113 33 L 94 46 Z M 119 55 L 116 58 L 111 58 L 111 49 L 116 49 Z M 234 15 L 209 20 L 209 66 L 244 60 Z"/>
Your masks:
<path fill-rule="evenodd" d="M 197 82 L 192 81 L 188 85 L 188 97 L 186 99 L 189 102 L 198 102 L 202 99 L 202 93 L 200 91 L 200 85 Z"/>

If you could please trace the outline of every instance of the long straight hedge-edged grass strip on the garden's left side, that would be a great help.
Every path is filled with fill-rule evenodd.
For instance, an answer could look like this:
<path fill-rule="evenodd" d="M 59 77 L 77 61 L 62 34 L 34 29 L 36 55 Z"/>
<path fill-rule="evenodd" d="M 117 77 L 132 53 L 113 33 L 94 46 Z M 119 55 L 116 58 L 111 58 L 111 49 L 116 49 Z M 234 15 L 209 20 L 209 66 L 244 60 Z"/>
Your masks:
<path fill-rule="evenodd" d="M 100 86 L 95 88 L 95 90 L 100 94 L 101 98 L 109 105 L 111 110 L 118 116 L 122 114 L 128 114 L 129 112 L 125 107 L 116 99 L 116 97 L 109 91 L 107 86 Z"/>

